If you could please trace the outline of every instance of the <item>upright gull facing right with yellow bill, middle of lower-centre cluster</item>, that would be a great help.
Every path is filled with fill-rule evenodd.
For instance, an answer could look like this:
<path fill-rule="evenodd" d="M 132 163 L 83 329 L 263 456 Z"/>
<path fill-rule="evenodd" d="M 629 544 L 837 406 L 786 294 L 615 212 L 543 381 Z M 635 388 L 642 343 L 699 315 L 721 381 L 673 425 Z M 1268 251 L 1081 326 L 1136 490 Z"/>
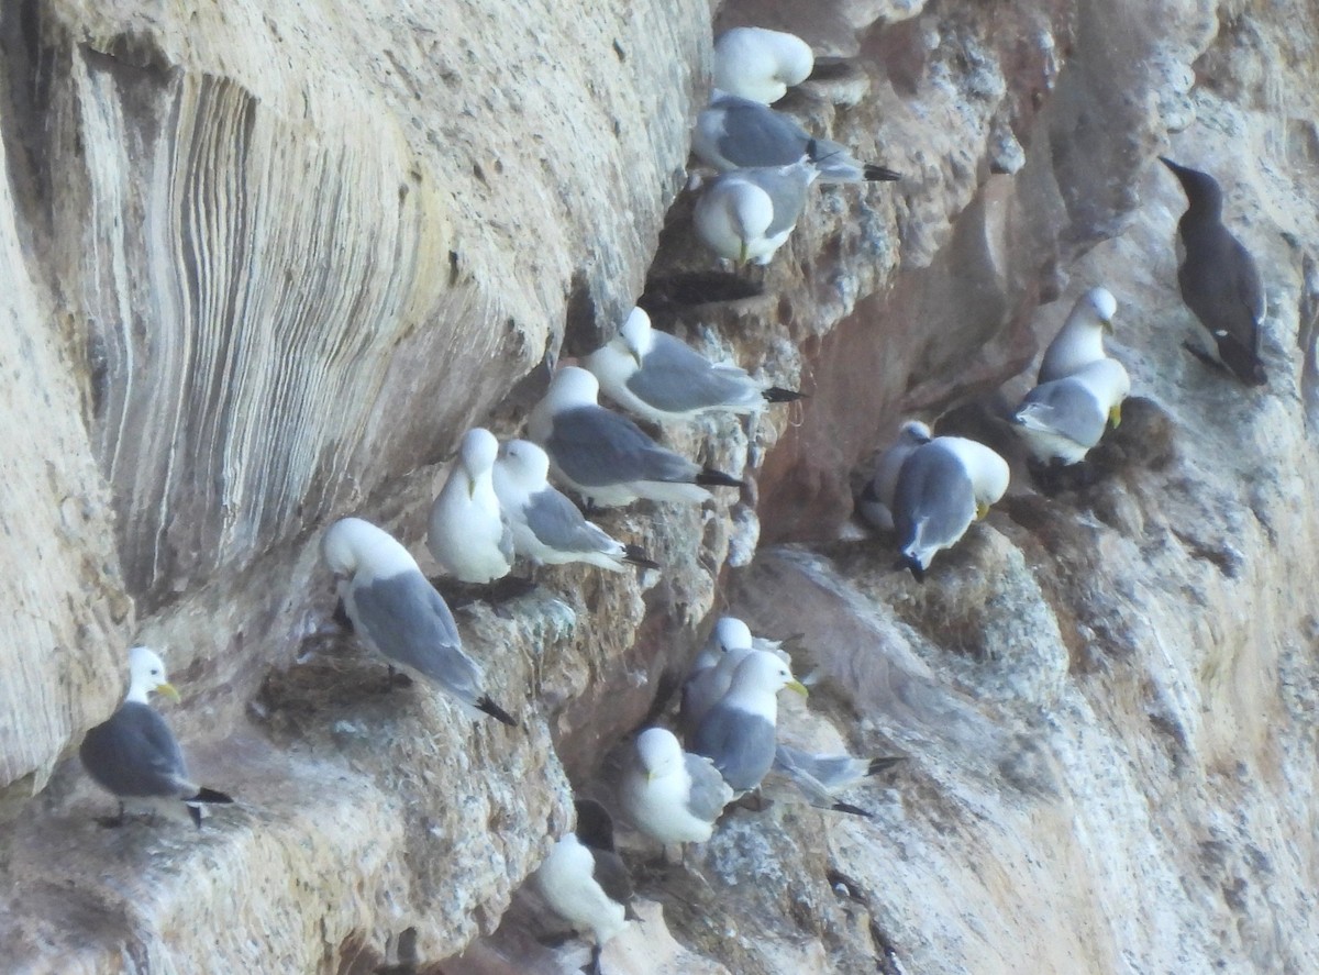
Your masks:
<path fill-rule="evenodd" d="M 702 719 L 691 751 L 704 755 L 737 793 L 760 785 L 774 764 L 778 691 L 806 694 L 787 665 L 772 653 L 752 650 L 733 672 L 732 686 Z"/>

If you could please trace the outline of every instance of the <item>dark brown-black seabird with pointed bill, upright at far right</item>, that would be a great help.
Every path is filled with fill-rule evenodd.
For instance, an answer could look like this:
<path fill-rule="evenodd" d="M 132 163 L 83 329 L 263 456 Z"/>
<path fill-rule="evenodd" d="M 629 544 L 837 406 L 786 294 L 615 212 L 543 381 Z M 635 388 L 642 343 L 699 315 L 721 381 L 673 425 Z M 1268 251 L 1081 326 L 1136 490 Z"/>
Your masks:
<path fill-rule="evenodd" d="M 1264 385 L 1264 285 L 1250 252 L 1223 226 L 1223 190 L 1208 173 L 1159 160 L 1186 191 L 1187 208 L 1177 224 L 1186 256 L 1177 281 L 1182 299 L 1212 339 L 1207 355 L 1246 385 Z"/>

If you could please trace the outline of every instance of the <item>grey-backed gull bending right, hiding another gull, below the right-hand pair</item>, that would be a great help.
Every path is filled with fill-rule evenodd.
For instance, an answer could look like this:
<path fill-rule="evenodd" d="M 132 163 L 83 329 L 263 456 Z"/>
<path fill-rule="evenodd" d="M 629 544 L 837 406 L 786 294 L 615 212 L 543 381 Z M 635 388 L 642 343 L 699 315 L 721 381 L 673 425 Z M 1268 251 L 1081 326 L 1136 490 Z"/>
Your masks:
<path fill-rule="evenodd" d="M 917 581 L 1008 489 L 1008 462 L 983 443 L 935 437 L 911 451 L 893 493 L 902 562 Z"/>

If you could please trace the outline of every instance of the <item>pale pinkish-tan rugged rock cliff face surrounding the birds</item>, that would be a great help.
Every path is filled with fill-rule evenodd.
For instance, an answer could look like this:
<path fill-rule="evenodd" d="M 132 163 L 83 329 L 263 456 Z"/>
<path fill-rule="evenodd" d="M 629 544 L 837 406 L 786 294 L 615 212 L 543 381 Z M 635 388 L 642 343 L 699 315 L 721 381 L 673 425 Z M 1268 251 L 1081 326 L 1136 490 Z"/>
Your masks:
<path fill-rule="evenodd" d="M 849 794 L 873 818 L 739 809 L 690 869 L 624 836 L 646 921 L 607 971 L 1319 970 L 1311 5 L 388 7 L 0 9 L 16 970 L 572 970 L 522 881 L 723 611 L 822 676 L 786 738 L 910 759 Z M 753 280 L 711 273 L 682 191 L 712 15 L 840 55 L 783 107 L 905 174 L 820 189 Z M 1260 260 L 1261 391 L 1182 348 L 1158 153 Z M 1100 282 L 1136 398 L 1046 497 L 995 417 Z M 662 573 L 459 613 L 521 730 L 377 690 L 318 532 L 421 554 L 462 431 L 513 431 L 642 292 L 810 397 L 673 434 L 752 483 L 604 519 Z M 852 487 L 943 413 L 1018 463 L 919 586 Z M 132 641 L 241 800 L 200 833 L 100 830 L 69 760 Z"/>

